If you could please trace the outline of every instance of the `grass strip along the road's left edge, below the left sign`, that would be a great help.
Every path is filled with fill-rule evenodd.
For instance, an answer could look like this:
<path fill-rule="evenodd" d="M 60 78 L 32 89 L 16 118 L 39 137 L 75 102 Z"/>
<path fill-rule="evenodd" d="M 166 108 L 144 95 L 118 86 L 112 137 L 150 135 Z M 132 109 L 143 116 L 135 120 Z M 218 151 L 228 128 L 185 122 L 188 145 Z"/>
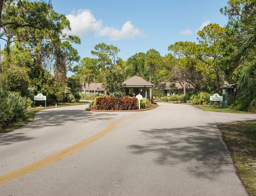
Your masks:
<path fill-rule="evenodd" d="M 76 105 L 84 105 L 84 104 L 90 104 L 90 102 L 76 102 L 76 103 L 65 103 L 65 104 L 57 104 L 57 107 L 65 107 L 65 106 L 76 106 Z M 34 116 L 36 114 L 36 112 L 40 111 L 40 110 L 45 110 L 45 109 L 49 109 L 49 108 L 55 108 L 56 106 L 47 106 L 47 107 L 43 107 L 43 108 L 30 108 L 30 110 L 28 111 L 28 118 L 26 118 L 25 120 L 23 120 L 22 122 L 14 122 L 14 123 L 10 123 L 10 125 L 8 125 L 8 127 L 5 127 L 4 129 L 0 130 L 0 133 L 8 133 L 10 131 L 13 131 L 14 129 L 18 129 L 28 123 L 30 123 L 31 121 L 34 120 Z"/>

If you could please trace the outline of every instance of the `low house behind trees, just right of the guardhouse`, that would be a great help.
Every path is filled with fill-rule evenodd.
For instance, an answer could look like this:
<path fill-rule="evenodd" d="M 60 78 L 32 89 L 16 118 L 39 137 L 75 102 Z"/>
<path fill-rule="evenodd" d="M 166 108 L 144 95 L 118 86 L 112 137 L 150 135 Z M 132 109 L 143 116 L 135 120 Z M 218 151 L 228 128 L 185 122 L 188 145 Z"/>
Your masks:
<path fill-rule="evenodd" d="M 184 94 L 183 85 L 180 82 L 160 82 L 156 84 L 156 87 L 164 90 L 165 96 L 171 96 L 174 94 Z M 186 89 L 193 88 L 189 83 L 186 83 Z"/>

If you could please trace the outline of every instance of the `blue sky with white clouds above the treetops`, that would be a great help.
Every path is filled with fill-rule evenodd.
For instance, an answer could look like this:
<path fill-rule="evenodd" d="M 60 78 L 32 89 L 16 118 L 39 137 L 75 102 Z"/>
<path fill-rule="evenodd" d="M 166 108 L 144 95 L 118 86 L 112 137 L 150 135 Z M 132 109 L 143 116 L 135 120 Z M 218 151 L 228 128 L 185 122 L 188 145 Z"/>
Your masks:
<path fill-rule="evenodd" d="M 123 60 L 149 49 L 165 56 L 170 44 L 197 42 L 196 32 L 205 25 L 227 23 L 220 13 L 227 0 L 52 0 L 52 6 L 70 20 L 68 34 L 80 37 L 74 48 L 81 58 L 92 57 L 102 42 L 118 47 Z"/>

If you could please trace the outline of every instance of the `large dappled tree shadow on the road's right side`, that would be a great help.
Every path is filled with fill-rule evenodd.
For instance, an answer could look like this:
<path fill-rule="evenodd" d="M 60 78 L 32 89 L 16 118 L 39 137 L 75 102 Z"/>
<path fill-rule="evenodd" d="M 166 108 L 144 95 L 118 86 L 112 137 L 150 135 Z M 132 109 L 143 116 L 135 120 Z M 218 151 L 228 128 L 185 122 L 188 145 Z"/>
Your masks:
<path fill-rule="evenodd" d="M 213 174 L 220 174 L 224 167 L 233 166 L 222 135 L 212 124 L 139 132 L 143 145 L 130 145 L 128 148 L 136 155 L 154 153 L 152 161 L 156 165 L 189 163 L 186 169 L 204 178 L 213 178 Z"/>

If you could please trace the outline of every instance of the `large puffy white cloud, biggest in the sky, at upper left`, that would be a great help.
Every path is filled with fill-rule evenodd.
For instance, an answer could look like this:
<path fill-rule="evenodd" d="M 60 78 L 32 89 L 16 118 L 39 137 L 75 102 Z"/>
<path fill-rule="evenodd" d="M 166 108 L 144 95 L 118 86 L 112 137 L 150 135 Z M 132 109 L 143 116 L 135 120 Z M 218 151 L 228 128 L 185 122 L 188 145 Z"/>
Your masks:
<path fill-rule="evenodd" d="M 114 27 L 104 27 L 102 20 L 96 20 L 90 10 L 78 10 L 68 14 L 67 19 L 70 21 L 71 31 L 65 31 L 68 35 L 77 35 L 80 38 L 86 37 L 93 33 L 95 36 L 105 36 L 110 40 L 134 39 L 134 37 L 144 37 L 143 31 L 127 21 L 122 29 Z"/>

